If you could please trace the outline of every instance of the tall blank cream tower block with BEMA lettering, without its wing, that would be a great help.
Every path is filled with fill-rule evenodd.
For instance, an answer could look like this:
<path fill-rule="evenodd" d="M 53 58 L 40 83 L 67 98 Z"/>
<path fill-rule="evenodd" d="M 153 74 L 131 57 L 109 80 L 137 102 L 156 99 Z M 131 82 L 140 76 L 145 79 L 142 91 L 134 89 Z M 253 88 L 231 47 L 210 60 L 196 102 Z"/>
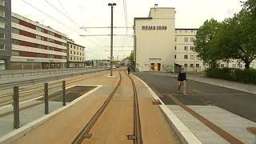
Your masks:
<path fill-rule="evenodd" d="M 174 71 L 174 8 L 150 9 L 148 18 L 134 18 L 135 70 Z"/>

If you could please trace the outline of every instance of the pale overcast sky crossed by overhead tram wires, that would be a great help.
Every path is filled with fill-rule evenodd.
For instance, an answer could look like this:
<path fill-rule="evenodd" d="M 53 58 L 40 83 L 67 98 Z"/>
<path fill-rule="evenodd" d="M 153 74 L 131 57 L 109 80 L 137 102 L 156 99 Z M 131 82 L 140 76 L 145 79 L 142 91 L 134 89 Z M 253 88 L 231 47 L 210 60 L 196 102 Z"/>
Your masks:
<path fill-rule="evenodd" d="M 106 59 L 110 55 L 107 51 L 110 49 L 107 47 L 110 46 L 109 37 L 84 38 L 79 35 L 110 34 L 110 30 L 85 31 L 79 27 L 110 26 L 110 6 L 107 6 L 109 2 L 117 3 L 117 6 L 114 6 L 114 26 L 126 26 L 123 0 L 12 0 L 12 12 L 50 26 L 67 34 L 79 45 L 86 46 L 86 59 Z M 147 17 L 150 7 L 155 3 L 158 3 L 158 7 L 176 9 L 176 28 L 198 28 L 206 19 L 215 18 L 222 21 L 241 10 L 240 0 L 126 0 L 128 26 L 133 26 L 136 17 Z M 114 34 L 126 34 L 126 30 L 114 30 Z M 133 34 L 133 30 L 128 30 L 128 34 Z M 133 38 L 115 37 L 114 46 L 133 46 Z M 132 49 L 115 47 L 114 58 L 125 58 Z"/>

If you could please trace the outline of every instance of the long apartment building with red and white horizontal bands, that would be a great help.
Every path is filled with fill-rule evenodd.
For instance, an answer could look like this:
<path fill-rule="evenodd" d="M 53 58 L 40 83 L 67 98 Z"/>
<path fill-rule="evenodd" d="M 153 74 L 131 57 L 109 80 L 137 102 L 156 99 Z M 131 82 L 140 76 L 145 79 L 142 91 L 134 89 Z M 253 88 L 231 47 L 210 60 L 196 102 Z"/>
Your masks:
<path fill-rule="evenodd" d="M 11 17 L 11 70 L 66 67 L 66 34 L 18 14 Z"/>

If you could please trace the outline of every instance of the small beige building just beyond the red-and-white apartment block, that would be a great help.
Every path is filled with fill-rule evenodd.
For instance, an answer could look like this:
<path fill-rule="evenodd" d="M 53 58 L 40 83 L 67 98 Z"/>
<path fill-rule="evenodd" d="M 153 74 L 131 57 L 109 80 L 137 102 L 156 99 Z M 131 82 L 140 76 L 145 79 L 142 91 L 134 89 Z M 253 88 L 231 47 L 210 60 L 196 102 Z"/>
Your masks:
<path fill-rule="evenodd" d="M 72 39 L 67 40 L 67 67 L 86 66 L 86 48 L 79 46 Z"/>

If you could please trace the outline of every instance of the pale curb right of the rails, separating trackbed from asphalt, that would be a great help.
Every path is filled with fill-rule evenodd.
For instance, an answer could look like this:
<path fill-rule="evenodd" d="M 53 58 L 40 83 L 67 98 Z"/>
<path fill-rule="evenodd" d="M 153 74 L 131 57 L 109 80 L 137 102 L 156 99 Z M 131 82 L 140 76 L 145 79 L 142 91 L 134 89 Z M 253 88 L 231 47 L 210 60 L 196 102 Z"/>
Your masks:
<path fill-rule="evenodd" d="M 137 78 L 140 82 L 146 86 L 147 90 L 150 91 L 150 94 L 154 99 L 159 100 L 162 105 L 159 105 L 163 114 L 165 114 L 168 122 L 174 128 L 175 133 L 178 135 L 178 138 L 182 142 L 182 144 L 202 144 L 202 142 L 181 122 L 178 117 L 162 102 L 162 100 L 158 97 L 157 94 L 146 84 L 146 82 L 142 81 L 141 78 L 138 78 L 134 74 L 132 74 L 134 78 Z"/>

